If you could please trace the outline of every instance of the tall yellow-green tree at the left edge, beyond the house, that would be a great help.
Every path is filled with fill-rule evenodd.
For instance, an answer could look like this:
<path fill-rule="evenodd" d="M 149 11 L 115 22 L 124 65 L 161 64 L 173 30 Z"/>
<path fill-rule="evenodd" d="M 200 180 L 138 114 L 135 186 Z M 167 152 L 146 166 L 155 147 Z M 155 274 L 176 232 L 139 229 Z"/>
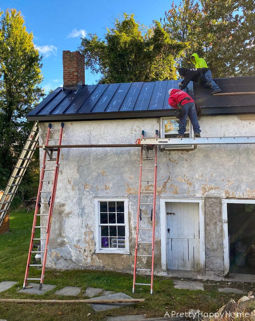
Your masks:
<path fill-rule="evenodd" d="M 33 125 L 27 122 L 26 114 L 44 91 L 38 86 L 43 79 L 42 57 L 21 12 L 7 9 L 0 16 L 0 188 L 4 188 Z M 22 184 L 33 186 L 38 156 L 33 163 Z"/>

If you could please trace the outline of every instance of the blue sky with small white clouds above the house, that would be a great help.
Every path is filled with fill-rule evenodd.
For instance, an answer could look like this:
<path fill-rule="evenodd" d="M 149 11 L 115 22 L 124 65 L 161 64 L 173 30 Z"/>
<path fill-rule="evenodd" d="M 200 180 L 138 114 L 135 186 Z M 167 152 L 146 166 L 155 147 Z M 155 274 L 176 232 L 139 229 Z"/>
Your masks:
<path fill-rule="evenodd" d="M 136 20 L 150 25 L 164 16 L 171 3 L 166 0 L 2 0 L 0 9 L 16 8 L 22 12 L 27 30 L 33 32 L 34 44 L 44 55 L 42 87 L 48 93 L 63 84 L 62 50 L 77 50 L 80 37 L 88 33 L 103 37 L 106 27 L 112 26 L 113 18 L 123 12 L 135 13 Z M 87 84 L 95 83 L 98 78 L 85 71 Z"/>

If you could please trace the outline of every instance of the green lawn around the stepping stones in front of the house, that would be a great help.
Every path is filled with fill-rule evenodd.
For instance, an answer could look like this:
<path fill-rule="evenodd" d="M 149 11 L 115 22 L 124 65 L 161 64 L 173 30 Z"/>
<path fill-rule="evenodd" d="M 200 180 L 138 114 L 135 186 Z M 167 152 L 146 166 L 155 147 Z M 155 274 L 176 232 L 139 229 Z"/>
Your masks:
<path fill-rule="evenodd" d="M 218 293 L 217 287 L 230 286 L 226 282 L 204 282 L 205 291 L 189 291 L 174 289 L 170 278 L 154 277 L 154 295 L 150 295 L 149 287 L 136 286 L 132 294 L 132 275 L 91 270 L 58 271 L 46 270 L 45 283 L 54 284 L 56 288 L 44 295 L 28 295 L 17 293 L 21 289 L 25 274 L 27 254 L 31 237 L 33 214 L 12 212 L 10 233 L 0 235 L 0 282 L 18 281 L 16 286 L 0 293 L 0 298 L 8 299 L 85 299 L 82 293 L 88 286 L 99 287 L 114 292 L 124 292 L 134 298 L 145 298 L 145 302 L 136 303 L 121 308 L 95 312 L 84 303 L 75 304 L 16 304 L 1 303 L 0 319 L 8 321 L 37 320 L 37 321 L 96 321 L 109 316 L 146 314 L 146 317 L 163 317 L 168 311 L 188 311 L 190 308 L 204 312 L 215 312 L 231 297 L 239 299 L 242 295 Z M 38 237 L 38 236 L 37 236 Z M 40 276 L 40 271 L 31 268 L 31 274 Z M 30 275 L 31 275 L 30 274 Z M 149 283 L 146 277 L 138 276 L 137 282 Z M 64 286 L 79 286 L 82 292 L 77 297 L 54 295 L 56 290 Z M 231 284 L 231 287 L 251 289 L 252 284 Z M 90 313 L 90 315 L 88 315 Z"/>

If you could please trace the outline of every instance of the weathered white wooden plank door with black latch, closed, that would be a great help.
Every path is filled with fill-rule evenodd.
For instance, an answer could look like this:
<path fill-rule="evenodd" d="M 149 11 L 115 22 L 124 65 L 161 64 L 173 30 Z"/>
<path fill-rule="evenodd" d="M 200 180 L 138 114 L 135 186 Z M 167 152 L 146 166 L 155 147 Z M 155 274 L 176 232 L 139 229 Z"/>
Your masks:
<path fill-rule="evenodd" d="M 199 203 L 169 202 L 166 214 L 168 269 L 200 271 Z"/>

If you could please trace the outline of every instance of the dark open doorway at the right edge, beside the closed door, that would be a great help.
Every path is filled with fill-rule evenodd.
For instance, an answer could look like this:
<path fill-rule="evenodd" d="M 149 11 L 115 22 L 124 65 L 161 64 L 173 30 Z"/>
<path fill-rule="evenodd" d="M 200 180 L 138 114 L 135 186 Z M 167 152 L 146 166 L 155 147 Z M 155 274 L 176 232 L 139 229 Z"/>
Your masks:
<path fill-rule="evenodd" d="M 255 202 L 227 204 L 230 273 L 255 274 Z"/>

